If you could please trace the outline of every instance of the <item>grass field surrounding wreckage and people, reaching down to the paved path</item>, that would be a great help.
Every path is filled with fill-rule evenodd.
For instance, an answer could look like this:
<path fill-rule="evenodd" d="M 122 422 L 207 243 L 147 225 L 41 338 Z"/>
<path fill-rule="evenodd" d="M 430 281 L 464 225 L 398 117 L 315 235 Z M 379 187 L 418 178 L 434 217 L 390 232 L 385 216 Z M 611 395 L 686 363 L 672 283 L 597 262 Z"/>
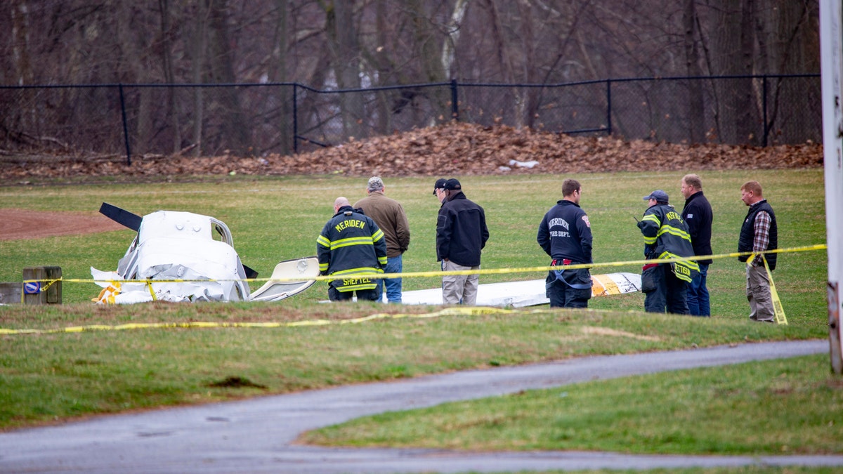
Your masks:
<path fill-rule="evenodd" d="M 681 176 L 681 173 L 574 176 L 583 183 L 581 204 L 593 227 L 593 255 L 598 264 L 593 272 L 639 271 L 637 265 L 601 265 L 642 259 L 642 236 L 632 216 L 640 217 L 646 207 L 642 197 L 657 188 L 668 191 L 674 205 L 681 208 Z M 535 243 L 535 232 L 546 210 L 560 198 L 561 180 L 565 177 L 460 177 L 466 195 L 486 208 L 491 239 L 484 250 L 484 268 L 547 264 L 548 258 Z M 765 197 L 776 210 L 782 248 L 825 243 L 822 170 L 718 171 L 704 173 L 702 178 L 715 213 L 712 245 L 716 254 L 736 250 L 738 229 L 746 213 L 739 199 L 739 187 L 749 179 L 759 180 L 765 186 Z M 404 205 L 410 219 L 412 240 L 405 254 L 405 272 L 438 269 L 434 250 L 438 201 L 431 196 L 433 179 L 386 176 L 384 180 L 387 195 Z M 86 213 L 95 213 L 101 202 L 110 202 L 138 214 L 168 209 L 211 215 L 228 224 L 244 263 L 258 270 L 261 277 L 267 277 L 277 261 L 314 255 L 315 237 L 330 218 L 334 198 L 344 195 L 354 201 L 365 194 L 365 183 L 366 178 L 235 176 L 195 183 L 15 186 L 0 188 L 0 202 L 10 208 Z M 132 232 L 121 230 L 3 241 L 0 242 L 0 281 L 19 280 L 23 267 L 44 265 L 62 267 L 65 278 L 89 279 L 90 267 L 113 270 L 131 240 Z M 590 304 L 593 310 L 582 312 L 545 310 L 273 329 L 154 329 L 3 336 L 0 428 L 583 354 L 827 337 L 824 251 L 785 254 L 779 262 L 774 277 L 789 326 L 749 322 L 744 267 L 736 259 L 728 258 L 718 259 L 711 265 L 709 288 L 713 317 L 710 320 L 643 314 L 642 294 L 629 294 L 593 299 Z M 481 283 L 539 277 L 543 277 L 540 272 L 512 273 L 484 276 Z M 252 283 L 252 288 L 260 284 Z M 405 279 L 405 290 L 438 285 L 435 277 Z M 368 303 L 319 304 L 319 300 L 326 298 L 324 284 L 319 283 L 276 304 L 105 307 L 89 302 L 99 293 L 94 283 L 64 283 L 62 291 L 65 304 L 60 306 L 0 307 L 0 327 L 56 329 L 91 324 L 289 322 L 319 318 L 336 321 L 383 311 L 435 310 Z M 601 331 L 589 329 L 594 327 Z M 827 369 L 822 369 L 822 358 L 811 364 L 821 372 L 812 377 L 828 377 Z M 703 375 L 690 375 L 697 376 Z M 226 383 L 232 380 L 240 383 Z M 647 403 L 646 387 L 650 383 L 646 382 L 645 389 L 634 396 Z M 804 383 L 815 386 L 824 382 L 808 381 L 806 377 Z M 598 384 L 589 390 L 600 393 L 615 389 Z M 836 392 L 840 392 L 839 388 Z M 817 406 L 827 402 L 836 401 L 819 396 L 798 400 L 799 404 Z M 619 416 L 635 418 L 636 414 Z M 832 434 L 837 435 L 839 431 Z M 591 449 L 602 448 L 597 443 Z M 758 445 L 742 449 L 766 452 Z"/>

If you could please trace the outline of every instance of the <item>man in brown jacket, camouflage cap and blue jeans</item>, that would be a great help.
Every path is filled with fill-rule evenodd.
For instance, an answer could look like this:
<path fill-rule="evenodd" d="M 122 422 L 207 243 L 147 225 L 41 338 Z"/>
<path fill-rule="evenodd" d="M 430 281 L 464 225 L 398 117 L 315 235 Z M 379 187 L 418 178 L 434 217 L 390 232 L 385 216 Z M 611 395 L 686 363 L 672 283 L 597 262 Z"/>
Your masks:
<path fill-rule="evenodd" d="M 386 237 L 386 273 L 400 273 L 402 270 L 401 255 L 410 246 L 410 224 L 404 207 L 395 199 L 384 196 L 384 180 L 373 176 L 368 180 L 366 191 L 368 197 L 354 203 L 355 209 L 362 209 L 363 213 L 372 218 L 375 224 L 384 232 Z M 401 302 L 401 279 L 384 278 L 386 282 L 386 299 L 389 303 Z M 378 294 L 383 291 L 379 280 Z"/>

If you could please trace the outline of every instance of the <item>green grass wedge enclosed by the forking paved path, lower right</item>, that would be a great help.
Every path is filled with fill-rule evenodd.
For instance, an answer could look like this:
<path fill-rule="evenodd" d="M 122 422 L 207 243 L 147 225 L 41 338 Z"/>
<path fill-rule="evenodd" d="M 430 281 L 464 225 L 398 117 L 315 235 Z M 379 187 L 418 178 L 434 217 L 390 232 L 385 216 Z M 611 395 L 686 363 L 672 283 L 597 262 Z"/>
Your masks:
<path fill-rule="evenodd" d="M 839 454 L 841 389 L 828 357 L 815 355 L 389 412 L 302 440 L 449 450 Z"/>

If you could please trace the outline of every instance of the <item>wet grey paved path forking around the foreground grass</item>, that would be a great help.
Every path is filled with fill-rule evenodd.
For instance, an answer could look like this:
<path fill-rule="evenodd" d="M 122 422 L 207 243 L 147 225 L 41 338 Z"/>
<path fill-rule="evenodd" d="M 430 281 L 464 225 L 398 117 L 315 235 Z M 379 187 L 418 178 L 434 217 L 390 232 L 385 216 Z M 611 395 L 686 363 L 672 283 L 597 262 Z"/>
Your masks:
<path fill-rule="evenodd" d="M 577 358 L 432 375 L 248 401 L 97 417 L 0 434 L 0 472 L 459 472 L 843 466 L 843 455 L 680 456 L 593 452 L 463 453 L 299 446 L 303 431 L 390 410 L 587 380 L 827 353 L 827 341 L 765 342 L 667 353 Z"/>

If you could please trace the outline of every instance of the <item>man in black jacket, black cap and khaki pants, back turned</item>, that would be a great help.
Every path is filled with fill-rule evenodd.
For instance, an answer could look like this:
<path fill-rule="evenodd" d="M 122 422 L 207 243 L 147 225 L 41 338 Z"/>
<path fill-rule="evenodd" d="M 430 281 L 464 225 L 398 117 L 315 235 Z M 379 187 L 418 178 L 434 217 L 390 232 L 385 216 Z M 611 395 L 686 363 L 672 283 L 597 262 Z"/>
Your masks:
<path fill-rule="evenodd" d="M 454 178 L 444 185 L 437 181 L 433 192 L 442 202 L 436 224 L 436 258 L 442 261 L 443 272 L 479 270 L 481 250 L 489 240 L 483 207 L 465 197 Z M 443 276 L 443 304 L 475 304 L 479 282 L 477 273 Z"/>

